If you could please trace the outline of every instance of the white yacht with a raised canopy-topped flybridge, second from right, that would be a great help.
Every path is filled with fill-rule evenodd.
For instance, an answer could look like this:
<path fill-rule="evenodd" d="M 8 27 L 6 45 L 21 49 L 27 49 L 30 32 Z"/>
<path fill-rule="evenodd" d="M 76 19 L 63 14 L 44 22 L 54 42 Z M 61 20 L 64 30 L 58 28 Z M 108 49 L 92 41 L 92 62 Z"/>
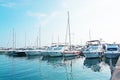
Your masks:
<path fill-rule="evenodd" d="M 88 41 L 86 48 L 83 50 L 85 58 L 102 57 L 103 53 L 104 53 L 103 45 L 99 40 Z"/>

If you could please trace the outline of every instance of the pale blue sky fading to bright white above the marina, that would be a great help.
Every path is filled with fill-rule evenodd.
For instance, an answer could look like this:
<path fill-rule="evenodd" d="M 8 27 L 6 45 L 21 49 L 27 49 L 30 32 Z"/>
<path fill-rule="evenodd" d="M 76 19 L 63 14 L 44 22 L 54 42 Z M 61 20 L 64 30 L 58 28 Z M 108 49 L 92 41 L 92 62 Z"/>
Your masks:
<path fill-rule="evenodd" d="M 67 12 L 72 44 L 120 43 L 120 0 L 0 0 L 0 47 L 65 42 Z M 26 44 L 25 44 L 26 43 Z"/>

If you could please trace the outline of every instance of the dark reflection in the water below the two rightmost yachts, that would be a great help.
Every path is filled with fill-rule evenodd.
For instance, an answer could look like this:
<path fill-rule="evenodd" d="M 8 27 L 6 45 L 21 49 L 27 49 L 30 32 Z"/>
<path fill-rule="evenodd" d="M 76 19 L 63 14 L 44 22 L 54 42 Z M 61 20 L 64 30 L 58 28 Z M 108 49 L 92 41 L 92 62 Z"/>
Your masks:
<path fill-rule="evenodd" d="M 118 59 L 106 59 L 106 58 L 96 58 L 96 59 L 85 59 L 84 66 L 91 68 L 94 72 L 100 72 L 102 67 L 109 66 L 111 74 L 113 73 L 114 67 Z"/>

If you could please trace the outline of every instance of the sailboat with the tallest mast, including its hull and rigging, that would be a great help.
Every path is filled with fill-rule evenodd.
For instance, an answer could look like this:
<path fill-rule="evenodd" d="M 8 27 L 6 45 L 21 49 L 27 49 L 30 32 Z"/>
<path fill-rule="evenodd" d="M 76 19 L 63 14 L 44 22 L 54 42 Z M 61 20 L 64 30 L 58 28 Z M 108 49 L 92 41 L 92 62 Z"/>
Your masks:
<path fill-rule="evenodd" d="M 67 40 L 67 31 L 69 32 L 69 44 L 66 43 Z M 70 21 L 69 21 L 69 12 L 68 12 L 68 23 L 66 29 L 66 37 L 65 37 L 65 50 L 63 51 L 63 56 L 77 56 L 80 54 L 80 51 L 76 51 L 72 48 L 71 45 L 71 33 L 70 33 Z"/>

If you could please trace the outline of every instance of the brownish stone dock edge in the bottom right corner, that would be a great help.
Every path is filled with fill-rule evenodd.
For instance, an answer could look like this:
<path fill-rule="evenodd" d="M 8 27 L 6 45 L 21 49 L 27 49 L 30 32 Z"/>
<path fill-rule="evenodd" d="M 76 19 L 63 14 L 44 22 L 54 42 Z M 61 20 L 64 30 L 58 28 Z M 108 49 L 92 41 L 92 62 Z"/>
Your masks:
<path fill-rule="evenodd" d="M 115 69 L 110 80 L 120 80 L 120 57 L 116 63 Z"/>

